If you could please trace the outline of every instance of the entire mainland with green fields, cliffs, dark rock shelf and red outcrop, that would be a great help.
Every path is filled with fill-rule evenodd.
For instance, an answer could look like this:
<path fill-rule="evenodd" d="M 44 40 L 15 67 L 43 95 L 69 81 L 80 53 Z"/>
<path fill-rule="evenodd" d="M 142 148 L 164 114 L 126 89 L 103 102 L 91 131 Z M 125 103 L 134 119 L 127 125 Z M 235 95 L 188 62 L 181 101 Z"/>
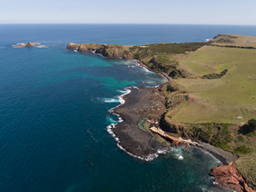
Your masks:
<path fill-rule="evenodd" d="M 158 88 L 132 88 L 113 109 L 118 145 L 139 158 L 183 144 L 204 148 L 223 165 L 215 182 L 256 191 L 256 37 L 219 34 L 204 43 L 73 44 L 67 49 L 136 60 L 168 79 Z"/>

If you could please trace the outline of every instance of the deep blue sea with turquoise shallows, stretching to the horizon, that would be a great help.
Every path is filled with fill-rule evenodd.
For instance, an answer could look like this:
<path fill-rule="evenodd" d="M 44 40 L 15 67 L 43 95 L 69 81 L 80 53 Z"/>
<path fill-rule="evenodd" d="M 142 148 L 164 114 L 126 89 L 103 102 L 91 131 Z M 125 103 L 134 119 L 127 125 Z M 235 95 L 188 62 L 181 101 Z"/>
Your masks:
<path fill-rule="evenodd" d="M 65 49 L 69 42 L 205 41 L 218 33 L 256 36 L 256 26 L 0 25 L 0 191 L 219 191 L 208 176 L 219 163 L 211 155 L 177 148 L 137 160 L 107 131 L 118 120 L 108 110 L 125 87 L 160 85 L 163 77 L 135 62 Z M 28 41 L 49 48 L 12 47 Z"/>

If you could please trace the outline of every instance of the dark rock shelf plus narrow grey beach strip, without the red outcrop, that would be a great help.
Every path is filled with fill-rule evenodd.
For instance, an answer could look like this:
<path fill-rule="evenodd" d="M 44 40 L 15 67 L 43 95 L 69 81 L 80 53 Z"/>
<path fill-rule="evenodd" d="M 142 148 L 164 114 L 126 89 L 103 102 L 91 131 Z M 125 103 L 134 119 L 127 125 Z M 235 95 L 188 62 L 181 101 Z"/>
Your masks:
<path fill-rule="evenodd" d="M 160 136 L 160 138 L 165 138 L 164 140 L 167 140 L 166 142 L 163 142 L 163 140 L 161 140 L 161 142 L 155 141 L 152 135 L 158 134 L 152 134 L 153 131 L 150 130 L 152 130 L 153 127 L 160 128 L 158 120 L 160 120 L 161 114 L 166 111 L 165 96 L 160 88 L 148 88 L 145 86 L 140 86 L 139 89 L 131 88 L 131 92 L 125 95 L 123 99 L 125 103 L 118 108 L 114 108 L 112 111 L 112 113 L 119 114 L 119 117 L 123 119 L 123 121 L 112 127 L 112 131 L 116 137 L 119 138 L 119 144 L 125 148 L 127 152 L 140 157 L 147 157 L 149 154 L 157 153 L 157 149 L 166 148 L 171 145 L 187 145 L 187 143 L 189 143 L 189 145 L 202 148 L 209 152 L 216 159 L 220 160 L 224 166 L 236 160 L 236 155 L 208 143 L 184 142 L 184 140 L 177 138 L 173 140 L 177 139 L 179 142 L 173 142 L 172 139 L 172 141 L 170 141 L 170 139 L 166 139 L 166 137 L 163 136 Z M 148 120 L 148 131 L 143 131 L 138 126 L 140 119 L 155 120 L 154 122 L 152 122 L 153 120 Z"/>

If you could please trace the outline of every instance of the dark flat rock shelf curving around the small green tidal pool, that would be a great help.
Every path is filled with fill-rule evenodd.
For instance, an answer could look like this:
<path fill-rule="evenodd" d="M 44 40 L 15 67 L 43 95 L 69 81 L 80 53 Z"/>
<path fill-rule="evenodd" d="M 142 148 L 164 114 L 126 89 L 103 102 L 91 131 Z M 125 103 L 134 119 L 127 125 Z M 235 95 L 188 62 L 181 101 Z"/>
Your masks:
<path fill-rule="evenodd" d="M 140 119 L 160 119 L 165 112 L 165 95 L 158 88 L 131 88 L 131 93 L 123 97 L 125 103 L 113 109 L 124 121 L 112 128 L 119 138 L 119 145 L 131 154 L 147 159 L 156 154 L 157 149 L 170 146 L 164 139 L 144 131 L 137 124 Z M 147 123 L 147 122 L 146 122 Z"/>

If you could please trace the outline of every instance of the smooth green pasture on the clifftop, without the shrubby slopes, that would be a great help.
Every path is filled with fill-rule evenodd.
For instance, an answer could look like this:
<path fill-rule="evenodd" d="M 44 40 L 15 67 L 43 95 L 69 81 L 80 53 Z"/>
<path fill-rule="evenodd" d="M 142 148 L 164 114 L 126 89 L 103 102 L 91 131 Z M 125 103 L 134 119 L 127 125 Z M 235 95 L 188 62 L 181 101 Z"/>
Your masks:
<path fill-rule="evenodd" d="M 195 100 L 173 120 L 238 123 L 256 116 L 256 49 L 204 46 L 180 65 L 199 76 L 220 73 L 224 68 L 228 73 L 221 79 L 176 79 Z"/>

